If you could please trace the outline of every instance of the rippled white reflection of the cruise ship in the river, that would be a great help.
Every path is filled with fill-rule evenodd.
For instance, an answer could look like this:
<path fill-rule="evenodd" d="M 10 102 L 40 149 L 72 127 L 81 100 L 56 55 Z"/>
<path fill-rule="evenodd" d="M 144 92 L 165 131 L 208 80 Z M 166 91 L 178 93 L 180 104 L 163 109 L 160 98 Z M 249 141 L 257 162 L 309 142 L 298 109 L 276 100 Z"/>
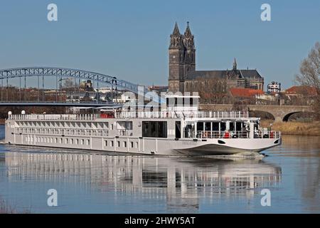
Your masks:
<path fill-rule="evenodd" d="M 75 188 L 90 194 L 130 197 L 131 207 L 155 200 L 164 204 L 163 212 L 198 212 L 201 202 L 236 197 L 245 202 L 259 197 L 262 188 L 279 187 L 281 168 L 263 160 L 217 160 L 211 157 L 142 157 L 92 153 L 9 152 L 5 155 L 10 182 L 33 180 L 73 182 Z M 94 193 L 92 193 L 94 192 Z M 102 197 L 103 198 L 103 197 Z M 137 202 L 135 201 L 137 200 Z M 139 202 L 138 202 L 139 201 Z M 103 199 L 100 204 L 104 204 Z M 92 206 L 88 203 L 87 206 Z M 112 206 L 112 207 L 113 207 Z M 137 206 L 139 207 L 139 206 Z M 108 212 L 152 212 L 124 209 Z M 120 209 L 119 209 L 120 210 Z M 76 212 L 76 211 L 71 211 Z"/>

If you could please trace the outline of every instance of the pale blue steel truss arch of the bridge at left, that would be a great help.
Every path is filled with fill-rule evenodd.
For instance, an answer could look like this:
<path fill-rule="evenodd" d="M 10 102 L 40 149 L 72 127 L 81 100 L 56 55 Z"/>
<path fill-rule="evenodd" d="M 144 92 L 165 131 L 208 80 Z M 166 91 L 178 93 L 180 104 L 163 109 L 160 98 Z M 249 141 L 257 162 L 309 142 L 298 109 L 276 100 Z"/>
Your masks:
<path fill-rule="evenodd" d="M 0 70 L 0 79 L 8 80 L 9 78 L 25 78 L 25 77 L 68 77 L 79 78 L 96 81 L 97 83 L 107 83 L 110 86 L 122 88 L 123 90 L 129 90 L 133 93 L 138 93 L 138 85 L 130 83 L 128 81 L 121 80 L 116 77 L 103 75 L 101 73 L 95 73 L 90 71 L 82 71 L 78 69 L 70 68 L 56 68 L 56 67 L 26 67 L 26 68 L 9 68 Z M 3 83 L 2 83 L 3 85 Z M 144 93 L 146 93 L 144 88 Z"/>

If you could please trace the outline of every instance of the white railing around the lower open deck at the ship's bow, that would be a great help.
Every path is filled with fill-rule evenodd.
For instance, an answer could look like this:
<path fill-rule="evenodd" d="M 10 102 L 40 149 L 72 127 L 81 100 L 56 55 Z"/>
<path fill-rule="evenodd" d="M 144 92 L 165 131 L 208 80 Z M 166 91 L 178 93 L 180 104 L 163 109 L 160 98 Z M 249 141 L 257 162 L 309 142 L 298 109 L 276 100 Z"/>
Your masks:
<path fill-rule="evenodd" d="M 280 138 L 281 133 L 279 131 L 261 131 L 258 130 L 254 133 L 253 138 Z M 247 130 L 241 131 L 208 131 L 208 130 L 198 130 L 197 133 L 184 133 L 184 138 L 201 138 L 201 139 L 229 139 L 229 138 L 250 138 L 250 133 Z"/>

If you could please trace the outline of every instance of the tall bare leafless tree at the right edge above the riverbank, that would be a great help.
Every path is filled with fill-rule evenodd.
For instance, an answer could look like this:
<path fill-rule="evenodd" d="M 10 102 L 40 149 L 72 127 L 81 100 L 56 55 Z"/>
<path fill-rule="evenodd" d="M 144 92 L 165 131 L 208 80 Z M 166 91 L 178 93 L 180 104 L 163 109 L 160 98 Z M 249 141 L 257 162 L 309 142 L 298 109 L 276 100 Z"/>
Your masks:
<path fill-rule="evenodd" d="M 314 100 L 314 110 L 320 113 L 320 43 L 316 42 L 304 58 L 300 66 L 300 73 L 295 81 L 302 86 L 311 86 L 316 89 L 316 100 Z"/>

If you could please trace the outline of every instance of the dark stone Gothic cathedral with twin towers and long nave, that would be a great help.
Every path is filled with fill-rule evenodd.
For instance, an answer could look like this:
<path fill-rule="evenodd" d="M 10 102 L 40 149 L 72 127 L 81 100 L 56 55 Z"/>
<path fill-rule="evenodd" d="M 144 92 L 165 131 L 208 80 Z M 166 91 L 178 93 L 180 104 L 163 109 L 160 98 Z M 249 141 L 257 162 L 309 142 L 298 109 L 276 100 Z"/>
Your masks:
<path fill-rule="evenodd" d="M 225 71 L 196 71 L 196 47 L 189 24 L 181 34 L 178 24 L 170 36 L 169 91 L 176 93 L 199 92 L 201 83 L 224 80 L 228 88 L 263 90 L 264 79 L 257 70 L 240 70 L 234 60 L 233 68 Z"/>

